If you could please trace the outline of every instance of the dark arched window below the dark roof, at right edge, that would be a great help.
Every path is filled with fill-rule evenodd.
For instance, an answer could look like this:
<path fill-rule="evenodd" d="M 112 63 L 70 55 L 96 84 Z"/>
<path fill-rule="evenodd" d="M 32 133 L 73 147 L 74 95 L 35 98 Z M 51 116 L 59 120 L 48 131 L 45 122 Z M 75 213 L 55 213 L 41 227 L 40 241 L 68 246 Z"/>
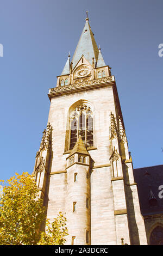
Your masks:
<path fill-rule="evenodd" d="M 149 231 L 149 245 L 163 245 L 163 224 L 155 223 Z"/>

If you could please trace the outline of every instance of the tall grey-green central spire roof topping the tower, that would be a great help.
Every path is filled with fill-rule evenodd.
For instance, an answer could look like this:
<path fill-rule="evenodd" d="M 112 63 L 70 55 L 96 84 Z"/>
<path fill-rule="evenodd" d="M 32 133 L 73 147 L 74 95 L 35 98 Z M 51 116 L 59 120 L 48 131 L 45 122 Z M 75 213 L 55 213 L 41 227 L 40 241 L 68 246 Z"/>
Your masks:
<path fill-rule="evenodd" d="M 91 31 L 88 18 L 86 18 L 82 35 L 80 36 L 76 51 L 73 54 L 72 68 L 76 66 L 79 59 L 82 57 L 82 54 L 87 59 L 87 61 L 90 62 L 90 64 L 92 64 L 92 58 L 95 58 L 95 62 L 97 63 L 98 47 Z"/>

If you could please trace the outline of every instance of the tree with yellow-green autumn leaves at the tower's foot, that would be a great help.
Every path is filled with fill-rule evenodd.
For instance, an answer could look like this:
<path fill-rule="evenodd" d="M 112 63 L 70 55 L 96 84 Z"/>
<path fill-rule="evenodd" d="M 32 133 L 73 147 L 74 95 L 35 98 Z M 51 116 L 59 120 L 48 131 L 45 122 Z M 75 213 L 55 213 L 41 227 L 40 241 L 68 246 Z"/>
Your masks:
<path fill-rule="evenodd" d="M 3 185 L 0 198 L 0 245 L 41 245 L 41 241 L 44 244 L 46 240 L 50 241 L 48 233 L 39 233 L 45 210 L 33 176 L 16 173 L 7 181 L 7 185 Z M 52 229 L 47 221 L 47 232 L 53 237 L 51 242 L 65 242 L 65 223 L 66 218 L 61 213 L 52 223 Z M 60 232 L 59 225 L 62 228 Z"/>

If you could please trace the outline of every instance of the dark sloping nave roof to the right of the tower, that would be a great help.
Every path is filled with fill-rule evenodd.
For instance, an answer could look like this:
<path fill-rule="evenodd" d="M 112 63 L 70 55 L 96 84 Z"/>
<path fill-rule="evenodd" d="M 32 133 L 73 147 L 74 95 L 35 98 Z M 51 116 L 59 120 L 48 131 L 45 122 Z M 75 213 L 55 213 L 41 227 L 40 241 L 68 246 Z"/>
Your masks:
<path fill-rule="evenodd" d="M 133 169 L 137 183 L 140 210 L 143 216 L 163 213 L 163 199 L 160 198 L 160 185 L 163 185 L 163 165 Z M 150 200 L 155 199 L 156 205 L 151 206 Z"/>

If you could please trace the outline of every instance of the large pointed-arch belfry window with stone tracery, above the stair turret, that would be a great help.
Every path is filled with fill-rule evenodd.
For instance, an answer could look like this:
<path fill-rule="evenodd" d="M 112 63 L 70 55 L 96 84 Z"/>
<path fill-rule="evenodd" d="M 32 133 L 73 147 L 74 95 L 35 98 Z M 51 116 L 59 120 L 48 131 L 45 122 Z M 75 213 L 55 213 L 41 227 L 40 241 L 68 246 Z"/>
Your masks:
<path fill-rule="evenodd" d="M 93 145 L 93 113 L 86 103 L 77 106 L 70 115 L 70 149 L 73 149 L 79 135 L 87 147 Z"/>

